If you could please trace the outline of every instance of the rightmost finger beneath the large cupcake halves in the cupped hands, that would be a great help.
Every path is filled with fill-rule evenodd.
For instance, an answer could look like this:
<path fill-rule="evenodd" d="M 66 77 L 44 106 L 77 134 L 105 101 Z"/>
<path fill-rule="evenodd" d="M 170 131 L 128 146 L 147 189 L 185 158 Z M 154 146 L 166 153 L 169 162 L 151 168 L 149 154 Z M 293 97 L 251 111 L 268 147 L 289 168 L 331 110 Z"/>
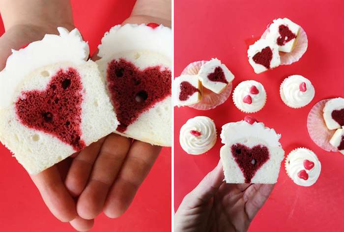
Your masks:
<path fill-rule="evenodd" d="M 134 141 L 104 205 L 108 217 L 119 217 L 127 210 L 160 151 L 160 146 Z"/>

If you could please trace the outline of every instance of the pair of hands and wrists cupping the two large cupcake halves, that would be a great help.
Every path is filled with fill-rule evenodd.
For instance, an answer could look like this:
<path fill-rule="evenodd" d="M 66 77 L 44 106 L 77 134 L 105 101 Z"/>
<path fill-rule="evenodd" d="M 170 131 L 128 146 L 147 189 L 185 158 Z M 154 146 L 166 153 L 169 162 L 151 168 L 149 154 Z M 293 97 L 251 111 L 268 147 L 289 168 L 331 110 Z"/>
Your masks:
<path fill-rule="evenodd" d="M 6 30 L 0 37 L 1 70 L 11 49 L 57 33 L 57 27 L 74 29 L 69 0 L 0 0 L 0 13 Z M 171 26 L 171 0 L 138 0 L 123 24 L 150 22 Z M 111 134 L 31 178 L 57 219 L 87 231 L 99 213 L 116 218 L 126 211 L 160 150 Z"/>

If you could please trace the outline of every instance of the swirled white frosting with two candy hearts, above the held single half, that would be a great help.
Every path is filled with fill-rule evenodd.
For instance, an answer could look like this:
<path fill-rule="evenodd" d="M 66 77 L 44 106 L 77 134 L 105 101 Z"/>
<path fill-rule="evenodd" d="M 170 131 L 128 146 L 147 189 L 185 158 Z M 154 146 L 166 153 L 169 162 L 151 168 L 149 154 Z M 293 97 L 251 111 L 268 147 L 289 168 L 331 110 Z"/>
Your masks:
<path fill-rule="evenodd" d="M 257 87 L 259 93 L 250 93 L 252 86 Z M 249 95 L 252 99 L 252 103 L 248 104 L 244 102 L 244 98 Z M 256 81 L 243 81 L 241 82 L 233 92 L 233 101 L 235 106 L 245 113 L 255 113 L 263 108 L 266 102 L 266 92 L 259 82 Z"/>

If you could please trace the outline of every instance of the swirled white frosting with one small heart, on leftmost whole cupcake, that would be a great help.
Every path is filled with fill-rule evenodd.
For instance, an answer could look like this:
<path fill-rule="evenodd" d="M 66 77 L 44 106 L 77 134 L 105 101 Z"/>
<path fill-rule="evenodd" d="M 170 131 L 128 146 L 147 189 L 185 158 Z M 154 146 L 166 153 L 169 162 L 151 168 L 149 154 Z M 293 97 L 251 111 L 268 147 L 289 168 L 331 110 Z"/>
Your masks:
<path fill-rule="evenodd" d="M 195 135 L 192 131 L 199 132 Z M 214 121 L 206 116 L 190 118 L 180 129 L 179 142 L 188 154 L 199 155 L 208 151 L 216 143 Z"/>

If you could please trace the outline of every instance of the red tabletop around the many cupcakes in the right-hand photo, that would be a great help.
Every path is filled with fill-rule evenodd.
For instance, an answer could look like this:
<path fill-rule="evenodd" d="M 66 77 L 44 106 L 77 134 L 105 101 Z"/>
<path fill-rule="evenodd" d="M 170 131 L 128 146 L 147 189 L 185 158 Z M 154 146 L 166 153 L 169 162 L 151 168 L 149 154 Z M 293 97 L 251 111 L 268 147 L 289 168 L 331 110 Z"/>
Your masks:
<path fill-rule="evenodd" d="M 202 3 L 200 3 L 202 2 Z M 267 103 L 256 114 L 251 114 L 268 127 L 282 134 L 286 155 L 294 148 L 306 146 L 318 156 L 322 170 L 311 187 L 294 184 L 283 166 L 269 200 L 251 224 L 250 231 L 344 231 L 344 157 L 317 147 L 310 139 L 306 120 L 312 106 L 321 99 L 344 97 L 344 26 L 341 0 L 176 0 L 174 76 L 196 60 L 217 57 L 235 75 L 234 87 L 244 80 L 257 80 L 267 91 Z M 275 18 L 287 17 L 305 29 L 309 47 L 305 55 L 292 65 L 277 67 L 255 74 L 247 59 L 248 44 Z M 291 109 L 281 100 L 279 86 L 284 78 L 300 74 L 310 79 L 315 87 L 315 98 L 302 109 Z M 179 145 L 179 130 L 187 119 L 209 116 L 221 133 L 227 122 L 241 120 L 241 113 L 231 96 L 220 107 L 211 111 L 175 108 L 174 111 L 174 206 L 179 206 L 201 178 L 219 160 L 222 146 L 217 144 L 206 154 L 187 155 Z"/>

